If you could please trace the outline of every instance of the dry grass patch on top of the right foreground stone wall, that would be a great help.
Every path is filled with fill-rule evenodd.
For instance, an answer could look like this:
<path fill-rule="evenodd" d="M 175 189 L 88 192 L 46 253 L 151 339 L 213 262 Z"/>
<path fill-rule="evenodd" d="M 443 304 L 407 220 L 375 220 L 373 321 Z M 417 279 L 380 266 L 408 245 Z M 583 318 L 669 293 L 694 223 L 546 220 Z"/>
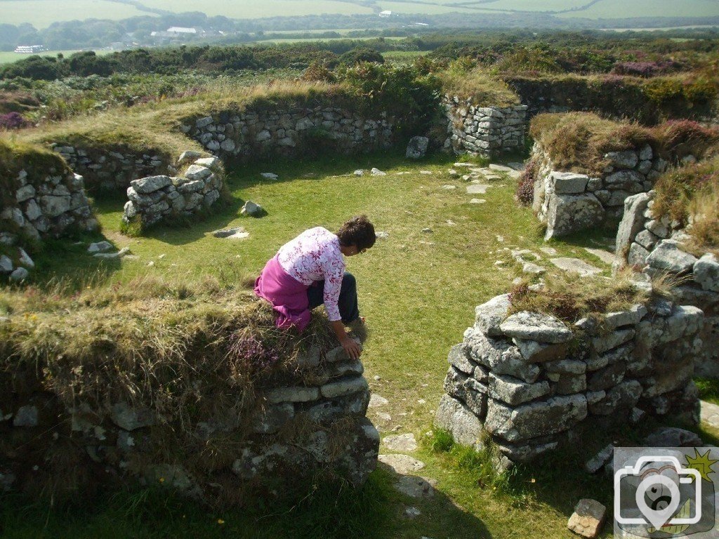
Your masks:
<path fill-rule="evenodd" d="M 568 324 L 585 316 L 629 308 L 645 300 L 623 272 L 611 280 L 582 279 L 578 276 L 549 276 L 541 290 L 531 290 L 522 282 L 510 291 L 510 314 L 528 310 L 553 315 Z"/>

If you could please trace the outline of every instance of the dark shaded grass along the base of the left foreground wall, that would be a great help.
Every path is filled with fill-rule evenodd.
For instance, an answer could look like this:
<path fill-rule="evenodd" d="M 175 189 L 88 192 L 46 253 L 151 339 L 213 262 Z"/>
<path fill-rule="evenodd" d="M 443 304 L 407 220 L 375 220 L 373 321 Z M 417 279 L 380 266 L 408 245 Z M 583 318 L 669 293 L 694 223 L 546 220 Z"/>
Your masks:
<path fill-rule="evenodd" d="M 220 512 L 160 488 L 106 494 L 91 504 L 74 502 L 64 507 L 6 494 L 0 497 L 0 535 L 5 539 L 398 538 L 404 536 L 407 522 L 398 518 L 403 508 L 391 481 L 388 472 L 377 470 L 361 489 L 317 483 L 298 500 L 251 499 L 252 509 Z M 447 499 L 440 502 L 446 516 L 459 519 L 472 537 L 489 537 L 475 517 Z M 420 524 L 428 533 L 441 533 L 431 522 Z"/>

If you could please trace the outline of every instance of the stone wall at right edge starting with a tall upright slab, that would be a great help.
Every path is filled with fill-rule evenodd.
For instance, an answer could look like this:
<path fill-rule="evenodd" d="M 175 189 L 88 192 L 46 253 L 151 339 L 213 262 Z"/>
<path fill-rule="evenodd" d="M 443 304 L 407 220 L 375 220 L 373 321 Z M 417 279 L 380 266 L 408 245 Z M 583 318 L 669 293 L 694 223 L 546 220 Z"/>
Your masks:
<path fill-rule="evenodd" d="M 713 253 L 689 252 L 691 227 L 655 215 L 654 195 L 649 191 L 626 199 L 617 233 L 618 257 L 647 277 L 671 277 L 679 283 L 672 290 L 677 301 L 704 312 L 695 369 L 698 376 L 719 378 L 719 259 Z"/>

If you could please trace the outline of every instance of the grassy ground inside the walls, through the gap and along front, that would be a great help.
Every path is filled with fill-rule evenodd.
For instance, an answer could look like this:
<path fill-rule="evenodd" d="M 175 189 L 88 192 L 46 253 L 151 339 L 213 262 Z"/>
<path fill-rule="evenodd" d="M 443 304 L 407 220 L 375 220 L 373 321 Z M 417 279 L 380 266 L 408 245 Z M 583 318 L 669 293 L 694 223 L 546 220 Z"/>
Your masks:
<path fill-rule="evenodd" d="M 377 231 L 389 234 L 347 264 L 357 277 L 362 314 L 371 331 L 362 355 L 365 376 L 372 391 L 389 400 L 388 405 L 371 409 L 370 418 L 380 425 L 382 436 L 393 432 L 416 436 L 420 447 L 414 455 L 427 464 L 420 473 L 439 481 L 434 497 L 404 497 L 390 487 L 388 472 L 378 470 L 365 492 L 352 497 L 347 507 L 342 497 L 319 498 L 308 507 L 262 520 L 262 525 L 248 515 L 206 515 L 187 505 L 175 511 L 141 512 L 137 517 L 137 511 L 124 509 L 124 502 L 110 501 L 90 515 L 75 512 L 65 520 L 51 512 L 47 521 L 52 533 L 46 528 L 45 535 L 42 513 L 24 525 L 14 522 L 19 535 L 9 537 L 316 537 L 317 533 L 416 539 L 572 537 L 566 522 L 577 500 L 610 499 L 607 479 L 580 471 L 584 453 L 559 464 L 550 462 L 536 474 L 517 474 L 510 491 L 502 492 L 478 480 L 472 459 L 429 448 L 426 433 L 442 394 L 449 348 L 472 325 L 475 305 L 508 290 L 521 273 L 519 264 L 500 249 L 519 247 L 541 254 L 539 247 L 544 247 L 531 211 L 513 200 L 512 180 L 490 182 L 493 187 L 479 195 L 486 203 L 470 204 L 477 195 L 467 195 L 467 184 L 449 177 L 447 170 L 453 162 L 449 157 L 434 157 L 409 163 L 373 155 L 238 166 L 229 176 L 234 202 L 228 208 L 190 228 L 155 229 L 142 239 L 119 234 L 122 201 L 98 203 L 105 236 L 117 247 L 129 246 L 137 256 L 106 268 L 111 271 L 107 278 L 118 281 L 138 275 L 193 280 L 206 274 L 240 281 L 257 275 L 285 241 L 304 229 L 321 225 L 334 230 L 350 216 L 367 213 Z M 371 167 L 388 175 L 352 175 L 357 168 Z M 265 171 L 277 173 L 280 179 L 262 180 L 259 173 Z M 446 190 L 443 185 L 457 188 Z M 268 215 L 239 217 L 247 199 L 264 206 Z M 249 239 L 211 236 L 211 231 L 226 226 L 244 226 Z M 426 228 L 432 231 L 423 232 Z M 602 234 L 582 241 L 597 247 Z M 607 268 L 576 242 L 556 242 L 552 247 L 559 256 L 581 257 Z M 63 268 L 69 277 L 92 272 L 96 262 L 85 249 L 66 243 L 50 247 L 37 259 L 40 272 L 50 266 Z M 542 256 L 540 263 L 549 267 Z M 505 264 L 498 267 L 498 260 Z M 378 412 L 391 419 L 380 419 Z M 406 517 L 410 506 L 421 515 Z M 268 512 L 272 513 L 270 508 Z M 218 518 L 224 523 L 219 524 Z M 336 522 L 326 522 L 332 518 Z M 22 535 L 22 530 L 29 535 Z"/>

